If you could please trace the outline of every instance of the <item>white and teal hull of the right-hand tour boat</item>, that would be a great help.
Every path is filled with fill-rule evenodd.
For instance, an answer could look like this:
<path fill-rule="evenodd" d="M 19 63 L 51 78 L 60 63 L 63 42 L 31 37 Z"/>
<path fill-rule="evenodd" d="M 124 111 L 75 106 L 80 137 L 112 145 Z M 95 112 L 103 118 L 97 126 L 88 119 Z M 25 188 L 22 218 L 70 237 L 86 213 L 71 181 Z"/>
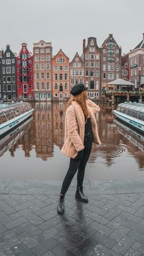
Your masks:
<path fill-rule="evenodd" d="M 115 116 L 118 117 L 118 119 L 122 120 L 125 123 L 128 123 L 128 125 L 131 125 L 135 129 L 144 133 L 144 122 L 142 120 L 135 119 L 134 117 L 123 114 L 117 110 L 113 110 L 113 114 L 115 114 Z"/>

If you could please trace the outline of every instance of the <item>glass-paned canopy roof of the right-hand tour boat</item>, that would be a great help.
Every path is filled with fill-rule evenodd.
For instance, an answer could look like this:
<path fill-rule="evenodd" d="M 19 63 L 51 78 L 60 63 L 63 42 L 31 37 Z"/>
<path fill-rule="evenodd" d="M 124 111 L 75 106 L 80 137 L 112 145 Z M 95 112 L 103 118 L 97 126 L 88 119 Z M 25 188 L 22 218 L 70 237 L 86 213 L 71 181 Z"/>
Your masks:
<path fill-rule="evenodd" d="M 117 106 L 117 111 L 131 115 L 136 119 L 144 121 L 144 104 L 139 103 L 120 103 Z"/>

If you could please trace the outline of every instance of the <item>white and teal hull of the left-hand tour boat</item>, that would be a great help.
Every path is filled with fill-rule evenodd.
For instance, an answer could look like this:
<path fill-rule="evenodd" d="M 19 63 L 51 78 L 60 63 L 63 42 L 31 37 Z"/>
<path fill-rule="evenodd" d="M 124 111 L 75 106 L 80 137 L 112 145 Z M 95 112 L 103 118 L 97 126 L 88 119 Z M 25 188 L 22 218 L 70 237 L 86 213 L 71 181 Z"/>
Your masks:
<path fill-rule="evenodd" d="M 32 112 L 34 109 L 31 109 L 24 114 L 18 115 L 14 119 L 11 119 L 5 123 L 2 123 L 0 125 L 0 136 L 3 136 L 5 133 L 8 133 L 10 130 L 12 130 L 15 126 L 20 125 L 20 123 L 24 122 L 28 117 L 32 115 Z"/>

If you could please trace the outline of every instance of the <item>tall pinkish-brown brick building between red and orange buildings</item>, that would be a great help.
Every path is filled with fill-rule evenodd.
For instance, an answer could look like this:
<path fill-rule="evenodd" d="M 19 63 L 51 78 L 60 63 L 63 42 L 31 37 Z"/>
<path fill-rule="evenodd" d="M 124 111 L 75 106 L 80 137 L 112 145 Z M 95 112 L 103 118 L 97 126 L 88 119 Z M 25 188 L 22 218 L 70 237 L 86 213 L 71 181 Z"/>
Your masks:
<path fill-rule="evenodd" d="M 34 43 L 34 98 L 51 100 L 52 97 L 52 46 L 41 40 Z"/>

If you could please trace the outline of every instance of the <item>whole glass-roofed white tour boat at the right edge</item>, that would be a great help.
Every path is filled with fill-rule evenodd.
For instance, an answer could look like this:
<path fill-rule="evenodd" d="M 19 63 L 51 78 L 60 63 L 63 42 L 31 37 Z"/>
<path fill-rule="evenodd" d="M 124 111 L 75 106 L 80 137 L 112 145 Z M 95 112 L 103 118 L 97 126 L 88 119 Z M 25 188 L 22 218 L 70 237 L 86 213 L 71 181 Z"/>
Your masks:
<path fill-rule="evenodd" d="M 113 110 L 113 114 L 115 114 L 118 119 L 144 133 L 143 103 L 120 103 L 117 109 Z"/>

